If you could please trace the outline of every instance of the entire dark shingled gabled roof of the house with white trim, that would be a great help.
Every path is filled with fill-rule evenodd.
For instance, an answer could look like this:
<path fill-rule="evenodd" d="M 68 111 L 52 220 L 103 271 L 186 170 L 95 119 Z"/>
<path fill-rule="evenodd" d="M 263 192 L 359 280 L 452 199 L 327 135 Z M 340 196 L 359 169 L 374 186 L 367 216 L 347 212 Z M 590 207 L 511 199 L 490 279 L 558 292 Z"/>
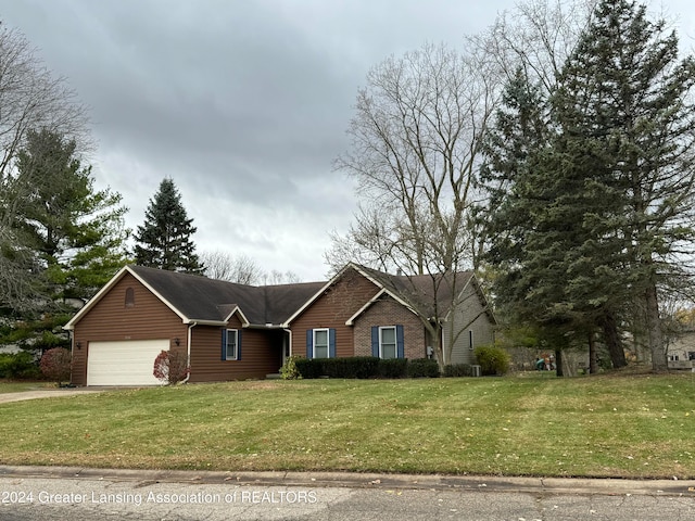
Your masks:
<path fill-rule="evenodd" d="M 352 317 L 351 325 L 362 313 L 384 295 L 394 298 L 412 313 L 426 319 L 445 318 L 450 313 L 454 295 L 459 295 L 469 283 L 480 295 L 471 271 L 456 276 L 397 276 L 384 274 L 357 264 L 349 264 L 328 282 L 303 282 L 254 287 L 224 280 L 208 279 L 164 269 L 129 265 L 121 269 L 85 307 L 65 325 L 75 325 L 127 274 L 135 277 L 153 295 L 181 318 L 184 323 L 224 326 L 237 314 L 243 327 L 287 328 L 294 318 L 307 309 L 320 295 L 334 284 L 349 269 L 354 269 L 377 288 L 375 296 Z M 437 298 L 434 295 L 437 294 Z M 492 314 L 490 314 L 492 317 Z M 492 317 L 494 321 L 494 317 Z"/>

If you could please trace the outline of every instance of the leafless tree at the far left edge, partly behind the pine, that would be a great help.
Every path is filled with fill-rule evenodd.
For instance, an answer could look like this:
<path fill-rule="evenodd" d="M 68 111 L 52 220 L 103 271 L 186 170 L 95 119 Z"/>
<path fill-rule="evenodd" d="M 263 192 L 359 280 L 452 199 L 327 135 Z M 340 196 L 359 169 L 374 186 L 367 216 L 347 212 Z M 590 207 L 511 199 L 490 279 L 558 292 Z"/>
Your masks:
<path fill-rule="evenodd" d="M 22 34 L 0 25 L 0 303 L 21 308 L 36 296 L 33 257 L 15 218 L 33 180 L 16 168 L 29 130 L 46 129 L 89 148 L 86 110 Z"/>

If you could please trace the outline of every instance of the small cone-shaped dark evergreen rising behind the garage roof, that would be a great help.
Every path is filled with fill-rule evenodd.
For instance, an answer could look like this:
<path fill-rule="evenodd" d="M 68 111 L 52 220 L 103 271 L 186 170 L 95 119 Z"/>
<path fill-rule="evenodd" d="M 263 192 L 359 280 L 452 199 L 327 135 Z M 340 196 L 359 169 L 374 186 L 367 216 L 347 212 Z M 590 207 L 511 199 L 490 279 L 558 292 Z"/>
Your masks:
<path fill-rule="evenodd" d="M 195 254 L 195 233 L 181 196 L 172 179 L 163 179 L 150 200 L 144 224 L 135 236 L 136 262 L 141 266 L 202 275 L 204 267 Z"/>

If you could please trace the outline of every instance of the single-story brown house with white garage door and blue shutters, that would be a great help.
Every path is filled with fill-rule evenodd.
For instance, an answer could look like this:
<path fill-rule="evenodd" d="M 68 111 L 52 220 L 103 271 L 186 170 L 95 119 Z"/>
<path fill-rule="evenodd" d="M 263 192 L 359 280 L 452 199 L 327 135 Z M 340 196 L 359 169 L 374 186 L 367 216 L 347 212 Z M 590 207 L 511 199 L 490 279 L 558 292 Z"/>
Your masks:
<path fill-rule="evenodd" d="M 427 276 L 354 264 L 327 282 L 267 287 L 126 266 L 65 326 L 72 383 L 157 384 L 163 350 L 188 355 L 190 382 L 264 378 L 293 354 L 424 358 L 432 340 L 421 317 L 446 302 L 456 305 L 438 316 L 451 363 L 471 363 L 472 348 L 493 341 L 494 317 L 472 272 L 459 275 L 453 292 L 447 278 L 428 289 Z"/>

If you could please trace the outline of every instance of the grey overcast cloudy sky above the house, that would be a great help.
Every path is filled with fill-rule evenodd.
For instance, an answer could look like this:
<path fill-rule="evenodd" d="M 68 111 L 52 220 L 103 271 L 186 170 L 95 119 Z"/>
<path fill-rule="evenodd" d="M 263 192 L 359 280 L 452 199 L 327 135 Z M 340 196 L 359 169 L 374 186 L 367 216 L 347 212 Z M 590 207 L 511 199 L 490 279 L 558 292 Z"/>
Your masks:
<path fill-rule="evenodd" d="M 90 109 L 99 188 L 144 220 L 164 177 L 198 251 L 323 280 L 352 187 L 331 163 L 368 69 L 482 30 L 514 0 L 0 0 Z M 693 48 L 691 0 L 656 3 Z M 690 12 L 688 12 L 690 11 Z"/>

